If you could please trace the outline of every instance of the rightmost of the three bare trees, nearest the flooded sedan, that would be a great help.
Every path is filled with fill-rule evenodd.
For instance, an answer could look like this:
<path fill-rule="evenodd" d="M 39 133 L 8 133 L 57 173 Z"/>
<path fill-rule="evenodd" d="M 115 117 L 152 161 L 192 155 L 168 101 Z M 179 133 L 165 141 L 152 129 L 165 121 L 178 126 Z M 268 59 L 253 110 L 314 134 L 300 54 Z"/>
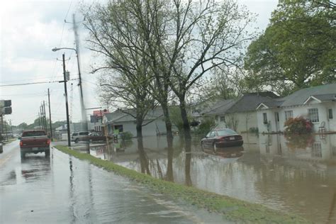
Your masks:
<path fill-rule="evenodd" d="M 169 1 L 167 39 L 160 47 L 162 73 L 179 99 L 184 136 L 190 139 L 186 94 L 203 74 L 215 67 L 237 66 L 242 47 L 251 40 L 250 14 L 235 1 Z"/>

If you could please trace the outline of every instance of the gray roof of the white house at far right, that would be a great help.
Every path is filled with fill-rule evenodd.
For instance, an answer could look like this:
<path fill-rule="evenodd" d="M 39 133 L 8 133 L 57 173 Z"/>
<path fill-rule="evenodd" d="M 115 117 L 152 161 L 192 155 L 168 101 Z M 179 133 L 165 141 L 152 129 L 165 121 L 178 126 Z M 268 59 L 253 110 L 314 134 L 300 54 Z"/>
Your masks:
<path fill-rule="evenodd" d="M 284 103 L 281 106 L 296 106 L 302 105 L 309 96 L 315 96 L 320 100 L 332 100 L 336 94 L 336 83 L 323 86 L 313 86 L 306 89 L 300 89 L 293 94 L 283 98 Z M 319 98 L 320 97 L 320 98 Z"/>

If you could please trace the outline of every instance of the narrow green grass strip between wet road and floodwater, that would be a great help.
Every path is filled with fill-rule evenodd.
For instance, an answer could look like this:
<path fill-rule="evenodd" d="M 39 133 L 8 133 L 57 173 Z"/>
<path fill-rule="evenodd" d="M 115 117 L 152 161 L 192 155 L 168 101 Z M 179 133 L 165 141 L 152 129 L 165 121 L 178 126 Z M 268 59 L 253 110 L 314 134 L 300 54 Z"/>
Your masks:
<path fill-rule="evenodd" d="M 148 189 L 160 194 L 167 194 L 176 200 L 183 200 L 187 203 L 206 208 L 213 213 L 223 214 L 228 220 L 238 223 L 310 223 L 307 220 L 287 213 L 280 213 L 265 206 L 241 201 L 228 196 L 214 194 L 191 186 L 184 186 L 174 182 L 164 181 L 150 177 L 147 174 L 136 172 L 132 169 L 121 167 L 113 162 L 102 160 L 94 156 L 69 150 L 68 147 L 57 145 L 57 150 L 65 152 L 79 159 L 88 160 L 97 167 L 103 167 L 123 177 L 127 177 L 140 184 L 144 184 Z"/>

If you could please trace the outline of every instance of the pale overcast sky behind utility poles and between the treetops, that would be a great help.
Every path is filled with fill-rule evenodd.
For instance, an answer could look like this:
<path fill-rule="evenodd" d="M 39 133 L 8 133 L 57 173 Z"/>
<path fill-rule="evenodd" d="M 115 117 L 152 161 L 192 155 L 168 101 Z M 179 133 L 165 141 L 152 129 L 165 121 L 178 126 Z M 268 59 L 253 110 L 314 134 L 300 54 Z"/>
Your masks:
<path fill-rule="evenodd" d="M 82 2 L 82 1 L 81 1 Z M 91 2 L 91 1 L 90 1 Z M 84 1 L 84 4 L 90 4 Z M 247 9 L 257 13 L 257 25 L 262 31 L 269 23 L 271 11 L 276 8 L 277 0 L 239 0 Z M 40 112 L 40 105 L 45 101 L 47 106 L 47 89 L 50 89 L 50 106 L 52 121 L 65 121 L 64 84 L 62 53 L 67 59 L 66 67 L 70 79 L 78 77 L 77 60 L 74 51 L 60 50 L 52 52 L 53 47 L 74 47 L 72 30 L 72 14 L 76 13 L 77 21 L 82 16 L 78 13 L 80 1 L 2 1 L 1 45 L 0 45 L 0 99 L 11 99 L 13 113 L 5 116 L 13 125 L 33 123 Z M 80 24 L 79 24 L 80 26 Z M 81 39 L 85 38 L 84 30 L 79 30 Z M 81 40 L 82 79 L 86 108 L 103 107 L 96 94 L 96 75 L 89 74 L 91 52 L 85 49 Z M 58 60 L 57 60 L 58 59 Z M 68 60 L 69 59 L 69 60 Z M 29 84 L 34 82 L 51 82 L 47 84 Z M 6 86 L 26 84 L 20 86 Z M 72 121 L 79 121 L 79 87 L 78 81 L 68 82 L 69 111 Z M 71 87 L 72 86 L 72 87 Z M 87 114 L 91 111 L 87 111 Z"/>

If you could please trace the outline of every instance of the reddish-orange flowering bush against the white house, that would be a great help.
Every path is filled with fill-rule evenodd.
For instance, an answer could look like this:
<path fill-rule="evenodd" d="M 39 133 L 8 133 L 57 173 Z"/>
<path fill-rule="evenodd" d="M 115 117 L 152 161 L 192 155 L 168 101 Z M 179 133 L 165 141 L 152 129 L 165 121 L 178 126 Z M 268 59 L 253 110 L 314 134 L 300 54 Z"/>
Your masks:
<path fill-rule="evenodd" d="M 285 122 L 285 133 L 301 135 L 311 133 L 312 131 L 313 123 L 302 116 L 289 118 Z"/>

